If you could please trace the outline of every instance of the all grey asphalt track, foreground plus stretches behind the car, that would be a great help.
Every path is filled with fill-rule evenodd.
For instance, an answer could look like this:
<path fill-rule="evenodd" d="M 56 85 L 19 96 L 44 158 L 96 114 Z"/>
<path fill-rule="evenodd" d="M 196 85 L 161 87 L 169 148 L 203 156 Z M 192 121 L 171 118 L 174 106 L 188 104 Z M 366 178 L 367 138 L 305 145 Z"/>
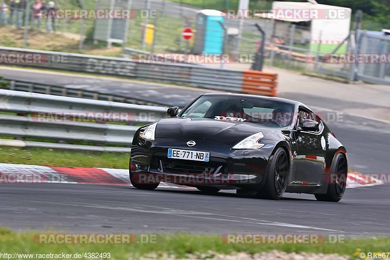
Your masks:
<path fill-rule="evenodd" d="M 118 83 L 92 77 L 25 71 L 21 74 L 8 69 L 0 69 L 0 75 L 45 83 L 79 84 L 79 87 L 109 86 L 129 91 L 129 95 L 138 95 L 134 92 L 137 89 L 141 94 L 147 92 L 143 83 Z M 118 87 L 122 84 L 123 87 Z M 130 88 L 128 84 L 137 87 Z M 180 100 L 187 102 L 187 98 L 192 100 L 199 93 L 207 92 L 162 85 L 153 91 L 149 98 L 172 100 L 172 105 L 180 105 Z M 177 96 L 168 98 L 166 95 Z M 332 108 L 329 102 L 337 103 L 337 100 L 319 97 L 288 96 L 307 99 L 310 102 L 306 103 L 314 106 L 328 102 L 326 107 Z M 351 169 L 363 173 L 390 172 L 389 124 L 350 116 L 348 120 L 328 122 L 328 125 L 347 147 Z M 106 233 L 390 234 L 389 184 L 348 189 L 339 203 L 319 202 L 312 195 L 286 194 L 280 201 L 271 201 L 232 192 L 210 196 L 188 189 L 141 191 L 126 186 L 81 184 L 0 184 L 0 194 L 0 226 L 14 229 Z"/>

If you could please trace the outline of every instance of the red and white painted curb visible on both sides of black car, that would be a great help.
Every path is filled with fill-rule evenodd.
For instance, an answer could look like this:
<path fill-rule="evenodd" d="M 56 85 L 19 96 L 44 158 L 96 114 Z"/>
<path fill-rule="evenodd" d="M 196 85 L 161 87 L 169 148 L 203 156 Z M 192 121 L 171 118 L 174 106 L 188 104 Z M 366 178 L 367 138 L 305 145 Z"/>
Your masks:
<path fill-rule="evenodd" d="M 131 185 L 129 170 L 106 168 L 67 168 L 0 163 L 0 183 L 79 183 Z M 348 173 L 347 188 L 373 186 L 384 182 L 360 173 Z M 159 187 L 191 188 L 162 182 Z"/>

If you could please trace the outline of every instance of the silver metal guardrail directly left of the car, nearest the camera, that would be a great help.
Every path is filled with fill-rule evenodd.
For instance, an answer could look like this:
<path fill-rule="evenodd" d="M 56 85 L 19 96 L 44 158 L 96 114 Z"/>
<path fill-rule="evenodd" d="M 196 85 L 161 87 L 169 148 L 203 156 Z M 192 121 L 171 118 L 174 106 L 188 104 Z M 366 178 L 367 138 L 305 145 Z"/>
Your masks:
<path fill-rule="evenodd" d="M 0 114 L 0 136 L 59 141 L 24 142 L 31 147 L 128 152 L 139 127 L 135 124 L 147 124 L 164 118 L 166 110 L 156 106 L 0 90 L 0 112 L 12 113 Z M 96 118 L 98 113 L 100 118 L 106 115 L 106 119 L 113 123 L 88 121 L 88 115 Z M 80 117 L 85 120 L 70 120 L 69 115 L 84 115 Z M 85 142 L 98 146 L 66 142 Z"/>

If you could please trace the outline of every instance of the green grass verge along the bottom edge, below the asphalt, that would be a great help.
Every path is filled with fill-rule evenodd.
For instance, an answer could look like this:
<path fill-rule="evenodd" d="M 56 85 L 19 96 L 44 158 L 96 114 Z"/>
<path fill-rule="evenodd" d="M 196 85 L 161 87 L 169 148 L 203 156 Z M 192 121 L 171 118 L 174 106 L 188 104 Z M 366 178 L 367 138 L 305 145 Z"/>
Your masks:
<path fill-rule="evenodd" d="M 75 254 L 85 252 L 110 253 L 113 259 L 137 259 L 147 254 L 163 256 L 169 254 L 178 258 L 188 254 L 202 258 L 213 257 L 213 253 L 234 254 L 247 252 L 256 254 L 264 251 L 278 250 L 283 252 L 308 252 L 339 254 L 350 258 L 359 258 L 360 252 L 387 252 L 390 238 L 360 238 L 345 240 L 337 244 L 227 244 L 219 236 L 205 235 L 157 235 L 155 243 L 140 243 L 137 241 L 130 244 L 39 244 L 33 240 L 34 235 L 42 232 L 16 233 L 9 229 L 0 229 L 0 252 L 21 254 Z M 48 232 L 43 232 L 47 234 Z M 55 234 L 55 232 L 50 232 Z M 39 258 L 38 258 L 39 259 Z"/>

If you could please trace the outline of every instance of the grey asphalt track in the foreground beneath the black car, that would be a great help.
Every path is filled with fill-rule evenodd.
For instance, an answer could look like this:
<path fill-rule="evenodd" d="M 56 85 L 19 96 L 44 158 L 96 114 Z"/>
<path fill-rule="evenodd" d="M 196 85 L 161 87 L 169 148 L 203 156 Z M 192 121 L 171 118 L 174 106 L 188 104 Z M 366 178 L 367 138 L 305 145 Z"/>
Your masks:
<path fill-rule="evenodd" d="M 298 194 L 273 201 L 192 189 L 0 184 L 0 226 L 104 233 L 389 235 L 389 192 L 386 184 L 353 188 L 334 203 Z"/>

